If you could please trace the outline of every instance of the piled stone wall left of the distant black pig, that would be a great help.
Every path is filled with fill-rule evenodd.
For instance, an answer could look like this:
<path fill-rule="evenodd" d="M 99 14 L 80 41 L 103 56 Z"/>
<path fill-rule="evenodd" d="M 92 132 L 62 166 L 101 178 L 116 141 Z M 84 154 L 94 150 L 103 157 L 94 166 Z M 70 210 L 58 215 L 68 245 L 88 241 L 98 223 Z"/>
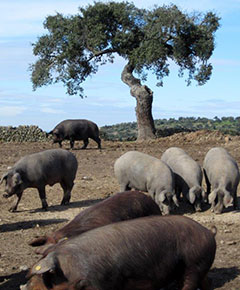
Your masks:
<path fill-rule="evenodd" d="M 47 133 L 38 126 L 0 126 L 0 142 L 46 142 Z"/>

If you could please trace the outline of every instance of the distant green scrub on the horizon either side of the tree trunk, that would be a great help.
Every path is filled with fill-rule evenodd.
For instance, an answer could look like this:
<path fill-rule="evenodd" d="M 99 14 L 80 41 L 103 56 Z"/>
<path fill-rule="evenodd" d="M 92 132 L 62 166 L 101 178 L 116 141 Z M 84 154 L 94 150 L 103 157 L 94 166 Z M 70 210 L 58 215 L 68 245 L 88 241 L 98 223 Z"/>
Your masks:
<path fill-rule="evenodd" d="M 223 134 L 240 135 L 240 117 L 195 118 L 180 117 L 177 120 L 158 119 L 154 121 L 157 137 L 166 137 L 180 132 L 194 132 L 198 130 L 218 130 Z M 101 127 L 101 136 L 104 140 L 133 141 L 137 139 L 137 123 L 120 123 Z"/>

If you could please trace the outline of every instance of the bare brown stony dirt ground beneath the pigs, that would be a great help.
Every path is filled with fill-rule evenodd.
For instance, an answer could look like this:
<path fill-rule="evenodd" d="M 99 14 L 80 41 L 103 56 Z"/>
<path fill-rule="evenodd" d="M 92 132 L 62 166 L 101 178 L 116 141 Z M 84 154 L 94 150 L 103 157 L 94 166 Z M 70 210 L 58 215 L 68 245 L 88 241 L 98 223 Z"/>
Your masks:
<path fill-rule="evenodd" d="M 199 131 L 180 133 L 170 137 L 145 142 L 102 142 L 103 149 L 96 149 L 90 142 L 87 150 L 79 150 L 76 142 L 79 167 L 69 206 L 60 206 L 62 190 L 58 184 L 47 187 L 48 211 L 41 210 L 36 189 L 24 191 L 16 213 L 8 211 L 11 199 L 3 198 L 4 185 L 0 186 L 0 289 L 19 289 L 26 283 L 25 275 L 38 256 L 28 242 L 39 235 L 49 233 L 71 220 L 81 210 L 118 192 L 113 164 L 119 156 L 130 150 L 138 150 L 160 158 L 171 146 L 186 150 L 200 165 L 206 152 L 215 146 L 226 148 L 240 165 L 240 137 L 229 137 L 218 132 Z M 20 157 L 33 152 L 57 148 L 51 143 L 0 143 L 0 176 Z M 69 143 L 64 144 L 69 148 Z M 224 164 L 223 164 L 224 166 Z M 205 183 L 203 182 L 205 186 Z M 238 189 L 240 205 L 240 186 Z M 183 206 L 178 214 L 184 214 L 210 228 L 217 227 L 217 253 L 209 272 L 213 289 L 240 289 L 240 212 L 230 207 L 221 215 L 215 215 L 207 207 L 193 213 Z"/>

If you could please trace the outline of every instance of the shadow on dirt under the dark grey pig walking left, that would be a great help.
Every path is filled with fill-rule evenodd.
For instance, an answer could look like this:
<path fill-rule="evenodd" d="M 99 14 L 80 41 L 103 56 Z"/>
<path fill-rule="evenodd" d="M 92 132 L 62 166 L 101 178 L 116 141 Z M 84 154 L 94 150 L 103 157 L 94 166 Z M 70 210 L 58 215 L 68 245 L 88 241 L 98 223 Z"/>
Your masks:
<path fill-rule="evenodd" d="M 100 201 L 103 201 L 104 199 L 102 198 L 98 198 L 98 199 L 86 199 L 86 200 L 80 200 L 80 201 L 73 201 L 73 202 L 70 202 L 68 205 L 52 205 L 52 206 L 49 206 L 47 211 L 49 212 L 60 212 L 60 211 L 65 211 L 69 208 L 84 208 L 84 207 L 88 207 L 88 206 L 91 206 L 91 205 L 94 205 L 95 203 L 98 203 Z M 31 213 L 34 213 L 34 212 L 43 212 L 43 209 L 42 208 L 37 208 L 37 209 L 34 209 L 34 210 L 31 210 Z"/>

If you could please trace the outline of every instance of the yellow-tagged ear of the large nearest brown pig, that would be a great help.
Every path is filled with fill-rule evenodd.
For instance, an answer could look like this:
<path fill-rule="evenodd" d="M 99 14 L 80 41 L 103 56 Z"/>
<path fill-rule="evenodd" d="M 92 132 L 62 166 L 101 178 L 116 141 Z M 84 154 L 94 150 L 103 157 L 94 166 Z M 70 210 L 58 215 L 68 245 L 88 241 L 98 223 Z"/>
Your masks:
<path fill-rule="evenodd" d="M 45 258 L 36 263 L 29 271 L 28 277 L 34 274 L 43 274 L 55 269 L 55 255 L 54 252 L 48 254 Z"/>

